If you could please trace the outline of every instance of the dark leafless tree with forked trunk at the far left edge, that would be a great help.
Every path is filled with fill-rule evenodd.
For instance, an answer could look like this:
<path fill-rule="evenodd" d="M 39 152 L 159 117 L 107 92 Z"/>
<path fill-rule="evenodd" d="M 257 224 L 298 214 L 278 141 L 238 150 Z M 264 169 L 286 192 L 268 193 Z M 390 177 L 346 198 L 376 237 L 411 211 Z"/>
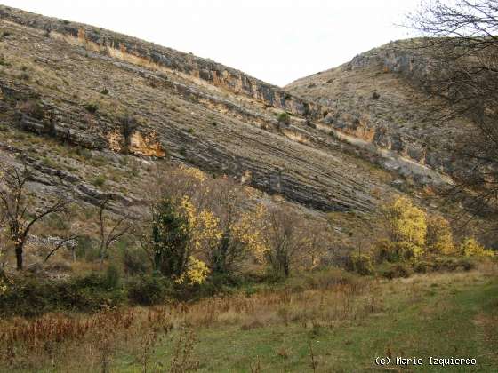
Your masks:
<path fill-rule="evenodd" d="M 64 196 L 56 196 L 48 205 L 39 206 L 35 211 L 29 211 L 31 201 L 28 198 L 26 185 L 31 177 L 26 166 L 3 167 L 0 181 L 0 209 L 4 216 L 8 235 L 12 241 L 16 266 L 18 270 L 23 267 L 24 245 L 33 226 L 40 220 L 52 214 L 66 212 L 69 200 Z"/>

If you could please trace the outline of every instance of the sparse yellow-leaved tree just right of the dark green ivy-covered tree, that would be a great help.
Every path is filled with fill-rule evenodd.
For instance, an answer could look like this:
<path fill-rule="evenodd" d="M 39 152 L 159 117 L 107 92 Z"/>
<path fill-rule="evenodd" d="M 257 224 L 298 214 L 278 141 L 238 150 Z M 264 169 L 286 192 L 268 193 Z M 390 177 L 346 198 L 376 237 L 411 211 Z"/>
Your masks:
<path fill-rule="evenodd" d="M 158 173 L 165 177 L 151 191 L 151 204 L 164 196 L 175 204 L 188 202 L 189 250 L 205 259 L 211 272 L 233 274 L 249 254 L 261 256 L 265 209 L 251 202 L 248 189 L 190 167 L 163 166 Z"/>

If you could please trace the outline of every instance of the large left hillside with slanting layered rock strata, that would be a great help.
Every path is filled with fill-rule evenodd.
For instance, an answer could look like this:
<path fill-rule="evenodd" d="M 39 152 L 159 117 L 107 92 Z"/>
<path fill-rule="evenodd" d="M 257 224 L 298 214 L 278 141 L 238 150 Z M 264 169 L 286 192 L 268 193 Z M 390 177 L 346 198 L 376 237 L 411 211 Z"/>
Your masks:
<path fill-rule="evenodd" d="M 329 108 L 237 70 L 4 6 L 0 33 L 2 160 L 25 155 L 40 180 L 59 175 L 88 201 L 100 193 L 89 183 L 99 165 L 53 144 L 90 151 L 103 166 L 123 153 L 138 168 L 169 158 L 318 210 L 371 210 L 394 193 L 389 173 L 333 136 Z M 111 189 L 130 202 L 138 196 L 126 170 Z"/>

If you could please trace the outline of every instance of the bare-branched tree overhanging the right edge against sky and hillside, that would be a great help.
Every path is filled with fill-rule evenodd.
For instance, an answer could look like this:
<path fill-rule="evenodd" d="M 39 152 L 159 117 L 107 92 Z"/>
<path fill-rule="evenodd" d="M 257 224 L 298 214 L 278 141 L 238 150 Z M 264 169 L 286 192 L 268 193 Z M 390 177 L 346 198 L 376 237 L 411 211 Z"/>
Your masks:
<path fill-rule="evenodd" d="M 454 174 L 454 194 L 474 213 L 498 213 L 498 6 L 495 0 L 426 1 L 408 25 L 431 36 L 421 85 L 438 119 L 467 118 L 474 131 L 454 146 L 471 167 Z"/>

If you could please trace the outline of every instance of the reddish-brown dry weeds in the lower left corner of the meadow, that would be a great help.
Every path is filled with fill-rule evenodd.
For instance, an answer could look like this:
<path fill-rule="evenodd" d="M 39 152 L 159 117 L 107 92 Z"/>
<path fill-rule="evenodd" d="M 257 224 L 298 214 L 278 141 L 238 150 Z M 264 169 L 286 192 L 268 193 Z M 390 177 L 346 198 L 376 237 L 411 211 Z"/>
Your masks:
<path fill-rule="evenodd" d="M 143 352 L 149 353 L 151 340 L 156 341 L 171 328 L 168 315 L 156 308 L 147 312 L 108 308 L 92 316 L 48 313 L 33 320 L 15 318 L 0 325 L 0 359 L 11 368 L 56 369 L 77 365 L 82 358 L 89 371 L 108 371 L 113 353 L 126 346 L 141 350 L 146 366 Z"/>

